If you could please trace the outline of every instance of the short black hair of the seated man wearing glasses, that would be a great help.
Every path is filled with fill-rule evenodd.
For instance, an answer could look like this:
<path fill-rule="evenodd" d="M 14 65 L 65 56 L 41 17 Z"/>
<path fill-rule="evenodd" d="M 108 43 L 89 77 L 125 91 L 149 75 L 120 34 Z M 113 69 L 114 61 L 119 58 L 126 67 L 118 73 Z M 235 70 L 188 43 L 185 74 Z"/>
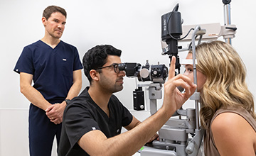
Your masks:
<path fill-rule="evenodd" d="M 92 77 L 90 77 L 90 70 L 102 67 L 107 62 L 107 55 L 115 55 L 120 57 L 121 50 L 114 48 L 112 45 L 97 45 L 94 48 L 88 50 L 82 58 L 82 65 L 84 72 L 91 83 Z"/>

